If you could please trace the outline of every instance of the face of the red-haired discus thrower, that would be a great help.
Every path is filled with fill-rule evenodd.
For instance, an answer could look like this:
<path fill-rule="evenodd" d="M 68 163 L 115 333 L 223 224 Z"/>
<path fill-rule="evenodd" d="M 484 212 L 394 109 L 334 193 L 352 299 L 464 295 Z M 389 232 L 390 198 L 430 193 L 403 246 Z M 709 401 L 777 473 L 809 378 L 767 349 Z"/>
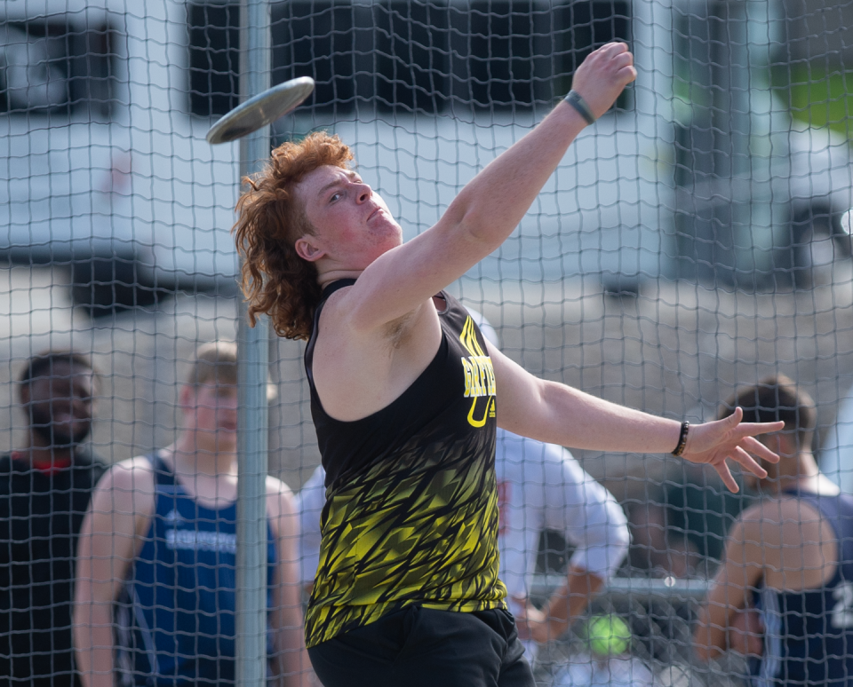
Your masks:
<path fill-rule="evenodd" d="M 352 170 L 319 167 L 296 193 L 315 232 L 296 241 L 296 250 L 322 271 L 363 270 L 403 242 L 385 201 Z"/>

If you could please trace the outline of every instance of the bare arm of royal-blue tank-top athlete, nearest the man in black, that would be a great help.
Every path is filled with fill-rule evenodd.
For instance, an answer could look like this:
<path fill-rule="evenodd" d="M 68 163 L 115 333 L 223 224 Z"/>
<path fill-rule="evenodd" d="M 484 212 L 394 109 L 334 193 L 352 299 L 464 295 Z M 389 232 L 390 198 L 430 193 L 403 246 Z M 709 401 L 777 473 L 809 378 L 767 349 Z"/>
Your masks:
<path fill-rule="evenodd" d="M 113 608 L 154 509 L 154 479 L 135 460 L 101 478 L 77 543 L 74 644 L 84 687 L 115 684 Z"/>

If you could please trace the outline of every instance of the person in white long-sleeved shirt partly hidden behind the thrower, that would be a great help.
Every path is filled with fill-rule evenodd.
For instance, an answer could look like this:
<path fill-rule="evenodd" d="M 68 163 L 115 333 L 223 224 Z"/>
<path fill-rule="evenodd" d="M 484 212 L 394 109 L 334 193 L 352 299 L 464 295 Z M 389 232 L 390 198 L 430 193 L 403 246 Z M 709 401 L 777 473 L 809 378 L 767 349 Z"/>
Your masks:
<path fill-rule="evenodd" d="M 471 311 L 483 336 L 498 346 L 488 320 Z M 594 596 L 624 560 L 630 535 L 625 512 L 601 484 L 562 446 L 544 444 L 498 428 L 500 580 L 509 592 L 528 659 L 538 645 L 561 636 L 586 611 Z M 325 504 L 325 471 L 320 465 L 299 494 L 299 561 L 303 586 L 314 584 L 320 557 L 320 515 Z M 555 530 L 575 547 L 566 582 L 541 610 L 530 604 L 538 543 Z"/>

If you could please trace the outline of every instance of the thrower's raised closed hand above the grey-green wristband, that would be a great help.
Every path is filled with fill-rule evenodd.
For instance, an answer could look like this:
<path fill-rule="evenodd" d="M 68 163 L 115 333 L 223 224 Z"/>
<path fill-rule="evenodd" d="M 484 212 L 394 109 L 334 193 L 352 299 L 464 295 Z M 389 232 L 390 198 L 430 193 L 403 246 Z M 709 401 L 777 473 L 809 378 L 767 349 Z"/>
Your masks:
<path fill-rule="evenodd" d="M 596 118 L 607 112 L 628 83 L 637 78 L 634 55 L 625 43 L 607 43 L 592 51 L 571 78 Z"/>

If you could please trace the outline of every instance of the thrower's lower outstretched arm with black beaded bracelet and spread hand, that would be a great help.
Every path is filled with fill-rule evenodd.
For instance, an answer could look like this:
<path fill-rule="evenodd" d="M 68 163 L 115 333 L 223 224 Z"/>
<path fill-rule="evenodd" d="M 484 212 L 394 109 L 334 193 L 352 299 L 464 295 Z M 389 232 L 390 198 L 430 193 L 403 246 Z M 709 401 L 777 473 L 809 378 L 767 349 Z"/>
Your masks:
<path fill-rule="evenodd" d="M 668 454 L 678 445 L 681 422 L 649 415 L 633 408 L 547 382 L 530 375 L 503 353 L 489 346 L 498 383 L 498 425 L 505 430 L 570 448 L 637 454 Z M 767 477 L 752 455 L 769 462 L 779 457 L 755 437 L 781 430 L 784 422 L 740 422 L 743 411 L 715 422 L 690 427 L 682 457 L 707 463 L 732 492 L 728 458 L 760 478 Z"/>

